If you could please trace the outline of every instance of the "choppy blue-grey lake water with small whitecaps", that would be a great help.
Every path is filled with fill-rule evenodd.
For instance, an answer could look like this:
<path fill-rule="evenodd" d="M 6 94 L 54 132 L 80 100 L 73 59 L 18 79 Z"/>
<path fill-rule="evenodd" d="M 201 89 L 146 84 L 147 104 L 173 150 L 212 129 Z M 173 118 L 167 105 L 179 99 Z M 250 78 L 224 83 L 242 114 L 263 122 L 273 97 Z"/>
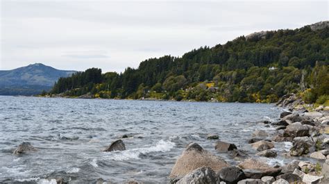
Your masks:
<path fill-rule="evenodd" d="M 246 140 L 255 123 L 276 119 L 273 104 L 0 97 L 0 183 L 61 176 L 72 183 L 97 178 L 167 183 L 189 142 L 216 153 L 208 133 L 253 153 Z M 122 135 L 126 151 L 103 152 Z M 12 155 L 22 142 L 39 151 Z M 284 145 L 282 145 L 283 147 Z M 269 162 L 282 160 L 269 160 Z"/>

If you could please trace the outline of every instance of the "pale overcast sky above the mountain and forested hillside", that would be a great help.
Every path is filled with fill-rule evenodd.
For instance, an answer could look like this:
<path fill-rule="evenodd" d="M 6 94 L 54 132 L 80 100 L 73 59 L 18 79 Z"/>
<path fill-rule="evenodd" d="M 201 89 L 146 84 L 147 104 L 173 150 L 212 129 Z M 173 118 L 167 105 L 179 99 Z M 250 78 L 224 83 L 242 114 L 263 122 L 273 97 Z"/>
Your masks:
<path fill-rule="evenodd" d="M 1 0 L 0 69 L 122 72 L 239 35 L 328 20 L 328 1 Z"/>

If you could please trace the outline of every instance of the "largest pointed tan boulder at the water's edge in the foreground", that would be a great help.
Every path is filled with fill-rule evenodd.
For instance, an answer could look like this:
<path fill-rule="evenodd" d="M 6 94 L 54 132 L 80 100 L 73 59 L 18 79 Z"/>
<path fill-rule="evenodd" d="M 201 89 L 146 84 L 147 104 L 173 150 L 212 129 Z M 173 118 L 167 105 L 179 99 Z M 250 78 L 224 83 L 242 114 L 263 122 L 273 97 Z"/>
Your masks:
<path fill-rule="evenodd" d="M 199 144 L 192 142 L 176 160 L 169 177 L 180 178 L 200 167 L 210 167 L 214 172 L 219 172 L 223 167 L 228 166 L 230 165 L 223 158 L 214 156 Z"/>

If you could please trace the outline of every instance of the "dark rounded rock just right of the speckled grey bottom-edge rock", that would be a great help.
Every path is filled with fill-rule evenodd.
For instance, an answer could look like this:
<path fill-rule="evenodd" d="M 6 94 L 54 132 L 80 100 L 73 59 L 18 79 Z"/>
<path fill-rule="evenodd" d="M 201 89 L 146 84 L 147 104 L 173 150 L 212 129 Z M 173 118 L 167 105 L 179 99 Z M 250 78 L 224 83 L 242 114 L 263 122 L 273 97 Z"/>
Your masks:
<path fill-rule="evenodd" d="M 217 176 L 221 178 L 221 181 L 224 181 L 228 184 L 237 183 L 238 181 L 243 180 L 246 178 L 244 172 L 239 167 L 231 166 L 231 167 L 224 167 L 217 173 Z"/>

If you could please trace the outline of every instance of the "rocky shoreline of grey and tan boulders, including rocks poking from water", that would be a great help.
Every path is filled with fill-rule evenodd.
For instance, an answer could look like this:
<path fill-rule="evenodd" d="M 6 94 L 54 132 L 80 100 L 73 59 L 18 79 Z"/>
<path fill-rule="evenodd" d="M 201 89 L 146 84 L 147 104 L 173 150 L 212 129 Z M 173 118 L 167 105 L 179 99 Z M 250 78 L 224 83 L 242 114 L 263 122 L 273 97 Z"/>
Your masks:
<path fill-rule="evenodd" d="M 218 135 L 208 135 L 208 140 L 216 140 L 214 149 L 237 160 L 237 164 L 232 165 L 221 156 L 203 149 L 196 142 L 191 142 L 171 169 L 169 183 L 329 183 L 329 107 L 314 108 L 312 104 L 305 104 L 294 94 L 280 99 L 277 106 L 287 109 L 280 114 L 278 121 L 260 122 L 263 126 L 275 128 L 275 133 L 256 130 L 250 137 L 246 137 L 246 144 L 255 150 L 255 154 L 239 149 L 239 145 L 219 140 Z M 121 138 L 126 137 L 128 135 Z M 289 151 L 278 151 L 278 142 L 289 142 L 292 147 Z M 124 141 L 119 139 L 103 151 L 125 149 Z M 30 151 L 37 149 L 24 142 L 13 154 Z M 286 165 L 273 166 L 262 160 L 278 156 L 293 161 Z M 63 178 L 48 178 L 44 181 L 69 183 Z M 94 183 L 112 182 L 99 178 Z"/>

